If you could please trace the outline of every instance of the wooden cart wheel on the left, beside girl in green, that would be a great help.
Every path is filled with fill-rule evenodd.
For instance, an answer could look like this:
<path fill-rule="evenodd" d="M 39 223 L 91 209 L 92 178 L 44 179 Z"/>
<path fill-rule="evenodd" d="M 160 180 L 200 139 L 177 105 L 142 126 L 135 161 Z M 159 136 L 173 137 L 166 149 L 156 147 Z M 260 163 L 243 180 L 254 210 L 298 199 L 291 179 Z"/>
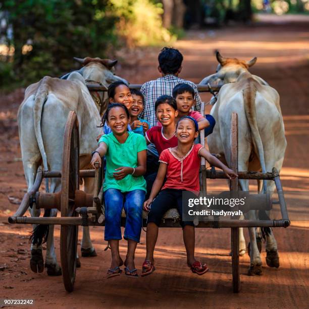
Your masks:
<path fill-rule="evenodd" d="M 79 189 L 79 132 L 75 112 L 70 112 L 65 127 L 62 178 L 61 217 L 76 217 L 74 211 L 75 190 Z M 74 289 L 76 275 L 78 226 L 62 225 L 60 253 L 63 281 L 68 292 Z"/>

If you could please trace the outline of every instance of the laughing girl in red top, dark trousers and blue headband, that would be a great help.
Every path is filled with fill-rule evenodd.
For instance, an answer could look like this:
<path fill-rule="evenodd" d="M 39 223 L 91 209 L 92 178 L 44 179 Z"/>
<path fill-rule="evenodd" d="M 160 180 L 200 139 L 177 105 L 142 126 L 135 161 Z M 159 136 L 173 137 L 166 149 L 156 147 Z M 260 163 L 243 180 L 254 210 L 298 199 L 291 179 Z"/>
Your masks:
<path fill-rule="evenodd" d="M 155 270 L 153 250 L 155 250 L 158 238 L 159 225 L 164 214 L 170 208 L 175 208 L 175 205 L 183 228 L 183 241 L 187 251 L 188 266 L 193 273 L 198 275 L 209 270 L 205 264 L 201 264 L 194 258 L 194 225 L 191 221 L 182 221 L 182 192 L 198 193 L 200 157 L 204 157 L 211 165 L 222 169 L 230 179 L 237 177 L 237 174 L 212 156 L 201 144 L 194 144 L 197 135 L 198 124 L 196 120 L 190 116 L 182 117 L 176 127 L 178 145 L 161 152 L 158 175 L 153 183 L 150 196 L 143 206 L 148 215 L 146 259 L 142 265 L 141 276 L 149 275 Z M 165 177 L 167 180 L 160 191 Z"/>

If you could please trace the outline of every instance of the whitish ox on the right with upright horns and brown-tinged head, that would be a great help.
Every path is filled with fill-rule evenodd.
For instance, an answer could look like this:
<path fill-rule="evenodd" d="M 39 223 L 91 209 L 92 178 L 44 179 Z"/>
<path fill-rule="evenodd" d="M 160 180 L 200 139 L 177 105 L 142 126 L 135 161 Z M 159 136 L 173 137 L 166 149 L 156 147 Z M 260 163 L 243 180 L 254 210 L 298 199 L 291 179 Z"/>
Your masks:
<path fill-rule="evenodd" d="M 279 104 L 278 92 L 262 78 L 251 75 L 248 68 L 256 58 L 246 62 L 223 58 L 216 54 L 219 66 L 217 73 L 205 77 L 200 84 L 224 84 L 219 91 L 218 100 L 211 110 L 216 120 L 214 132 L 208 136 L 208 145 L 213 153 L 220 153 L 222 161 L 230 165 L 230 122 L 231 114 L 238 114 L 238 170 L 279 172 L 286 149 L 284 124 Z M 259 191 L 262 182 L 259 182 Z M 239 180 L 241 190 L 249 190 L 248 180 Z M 265 181 L 264 189 L 273 191 L 273 181 Z M 256 213 L 250 211 L 246 219 L 255 219 Z M 239 253 L 245 253 L 243 230 L 240 229 Z M 262 274 L 261 255 L 256 242 L 255 229 L 249 228 L 250 269 L 249 275 Z M 277 242 L 271 229 L 266 230 L 267 265 L 279 267 Z"/>

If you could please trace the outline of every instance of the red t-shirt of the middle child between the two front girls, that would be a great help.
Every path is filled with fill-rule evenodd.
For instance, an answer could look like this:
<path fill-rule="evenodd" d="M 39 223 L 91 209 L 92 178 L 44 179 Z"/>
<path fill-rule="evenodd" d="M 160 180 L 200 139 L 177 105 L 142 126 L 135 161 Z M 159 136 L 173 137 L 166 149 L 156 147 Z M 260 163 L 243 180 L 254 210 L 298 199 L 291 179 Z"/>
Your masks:
<path fill-rule="evenodd" d="M 167 139 L 163 135 L 163 127 L 152 127 L 146 131 L 145 136 L 150 143 L 155 144 L 159 156 L 164 149 L 169 147 L 176 147 L 178 144 L 176 135 L 173 135 L 170 139 Z"/>

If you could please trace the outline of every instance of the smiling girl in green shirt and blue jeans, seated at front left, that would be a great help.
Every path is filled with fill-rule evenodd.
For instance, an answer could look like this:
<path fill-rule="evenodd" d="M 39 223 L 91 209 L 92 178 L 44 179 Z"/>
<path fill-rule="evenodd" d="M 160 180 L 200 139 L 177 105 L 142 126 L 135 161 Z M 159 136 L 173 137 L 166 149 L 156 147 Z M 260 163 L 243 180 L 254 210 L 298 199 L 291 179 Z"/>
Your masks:
<path fill-rule="evenodd" d="M 94 151 L 91 165 L 106 157 L 106 173 L 103 185 L 105 199 L 105 240 L 112 249 L 112 264 L 109 277 L 120 275 L 124 264 L 128 276 L 137 276 L 134 265 L 136 245 L 142 228 L 142 206 L 146 193 L 146 142 L 141 134 L 127 131 L 128 109 L 122 104 L 111 104 L 105 121 L 112 132 L 101 136 L 99 147 Z M 126 260 L 119 254 L 121 235 L 121 212 L 126 212 L 124 238 L 128 240 Z"/>

